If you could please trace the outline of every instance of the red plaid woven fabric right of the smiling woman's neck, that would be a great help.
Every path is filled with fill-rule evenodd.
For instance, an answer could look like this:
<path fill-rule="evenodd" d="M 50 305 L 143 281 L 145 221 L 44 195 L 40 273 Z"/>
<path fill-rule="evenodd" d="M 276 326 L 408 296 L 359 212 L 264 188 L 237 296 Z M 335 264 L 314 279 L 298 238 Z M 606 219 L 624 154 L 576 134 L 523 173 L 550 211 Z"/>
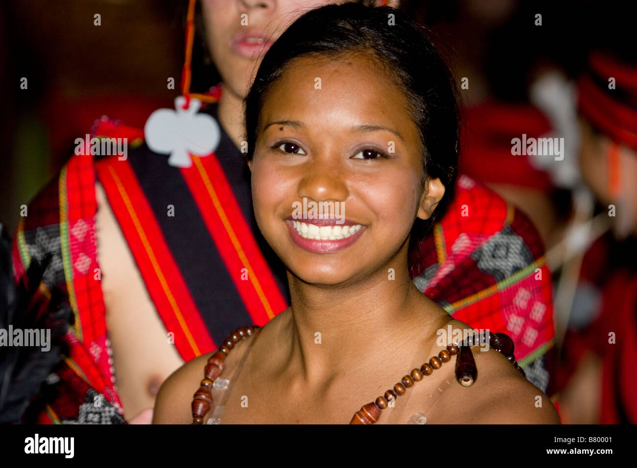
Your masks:
<path fill-rule="evenodd" d="M 457 320 L 511 336 L 520 365 L 528 365 L 554 336 L 543 245 L 527 216 L 489 188 L 461 175 L 456 190 L 420 246 L 415 284 Z"/>

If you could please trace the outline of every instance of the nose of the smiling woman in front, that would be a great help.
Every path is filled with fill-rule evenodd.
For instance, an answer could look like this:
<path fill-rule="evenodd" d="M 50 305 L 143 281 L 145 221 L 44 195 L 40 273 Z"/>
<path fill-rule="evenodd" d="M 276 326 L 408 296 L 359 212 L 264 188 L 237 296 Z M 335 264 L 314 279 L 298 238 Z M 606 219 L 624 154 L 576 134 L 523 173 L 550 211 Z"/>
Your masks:
<path fill-rule="evenodd" d="M 324 162 L 304 164 L 297 195 L 313 201 L 345 201 L 349 196 L 345 171 L 342 167 L 328 166 Z"/>

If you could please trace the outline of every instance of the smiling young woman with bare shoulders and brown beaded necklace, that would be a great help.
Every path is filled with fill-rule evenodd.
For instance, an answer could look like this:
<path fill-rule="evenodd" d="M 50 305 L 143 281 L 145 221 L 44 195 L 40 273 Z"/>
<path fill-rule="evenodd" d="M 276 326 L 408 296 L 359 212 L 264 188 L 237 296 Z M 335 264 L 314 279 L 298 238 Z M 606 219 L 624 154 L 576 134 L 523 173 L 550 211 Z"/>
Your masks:
<path fill-rule="evenodd" d="M 364 404 L 384 410 L 378 423 L 559 422 L 513 350 L 476 352 L 475 383 L 455 383 L 443 363 L 458 350 L 436 331 L 471 327 L 410 279 L 410 239 L 447 204 L 459 149 L 454 85 L 422 29 L 389 8 L 310 11 L 271 46 L 245 102 L 255 216 L 292 305 L 176 371 L 154 422 L 347 423 Z M 315 220 L 292 216 L 304 199 L 341 203 L 354 234 L 320 220 L 310 238 Z"/>

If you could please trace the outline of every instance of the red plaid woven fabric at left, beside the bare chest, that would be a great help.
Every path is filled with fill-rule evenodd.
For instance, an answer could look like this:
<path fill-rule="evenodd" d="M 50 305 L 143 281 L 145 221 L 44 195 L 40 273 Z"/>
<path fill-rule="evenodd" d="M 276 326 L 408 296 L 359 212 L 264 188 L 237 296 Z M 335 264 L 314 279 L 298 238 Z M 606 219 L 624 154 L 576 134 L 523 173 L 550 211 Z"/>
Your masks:
<path fill-rule="evenodd" d="M 77 378 L 73 378 L 76 390 L 79 391 L 77 384 L 82 381 L 86 389 L 92 388 L 92 391 L 103 395 L 104 402 L 120 408 L 111 378 L 106 309 L 100 277 L 96 274 L 99 266 L 95 180 L 90 155 L 76 155 L 69 160 L 59 177 L 29 204 L 29 215 L 20 221 L 13 245 L 13 268 L 17 280 L 20 280 L 31 259 L 53 253 L 41 289 L 48 297 L 52 290 L 61 290 L 74 315 L 74 323 L 66 335 L 69 353 L 63 357 L 56 371 L 58 377 L 53 380 L 59 381 L 65 376 L 64 382 L 68 383 L 73 375 Z M 62 420 L 69 420 L 74 411 L 77 416 L 85 394 L 85 391 L 77 394 L 80 397 L 78 404 L 71 405 L 74 410 L 69 409 L 68 392 L 51 392 L 55 402 L 38 402 L 43 406 L 43 413 L 37 416 L 37 420 L 61 422 L 58 413 L 64 415 Z M 121 416 L 120 419 L 123 421 Z"/>

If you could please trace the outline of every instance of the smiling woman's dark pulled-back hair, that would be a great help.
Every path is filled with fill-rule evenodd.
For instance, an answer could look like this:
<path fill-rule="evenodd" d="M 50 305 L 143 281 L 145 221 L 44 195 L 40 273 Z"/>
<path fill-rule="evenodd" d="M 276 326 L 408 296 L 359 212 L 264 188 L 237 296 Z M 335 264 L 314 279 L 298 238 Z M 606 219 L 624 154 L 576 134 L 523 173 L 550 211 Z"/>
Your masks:
<path fill-rule="evenodd" d="M 389 15 L 393 15 L 393 24 Z M 248 160 L 254 156 L 259 114 L 273 83 L 291 60 L 365 53 L 382 64 L 400 87 L 420 132 L 424 175 L 440 178 L 445 196 L 429 220 L 416 220 L 412 246 L 424 238 L 454 197 L 460 118 L 455 82 L 427 30 L 390 7 L 331 4 L 308 11 L 283 32 L 264 55 L 245 98 Z M 425 180 L 423 180 L 423 183 Z"/>

